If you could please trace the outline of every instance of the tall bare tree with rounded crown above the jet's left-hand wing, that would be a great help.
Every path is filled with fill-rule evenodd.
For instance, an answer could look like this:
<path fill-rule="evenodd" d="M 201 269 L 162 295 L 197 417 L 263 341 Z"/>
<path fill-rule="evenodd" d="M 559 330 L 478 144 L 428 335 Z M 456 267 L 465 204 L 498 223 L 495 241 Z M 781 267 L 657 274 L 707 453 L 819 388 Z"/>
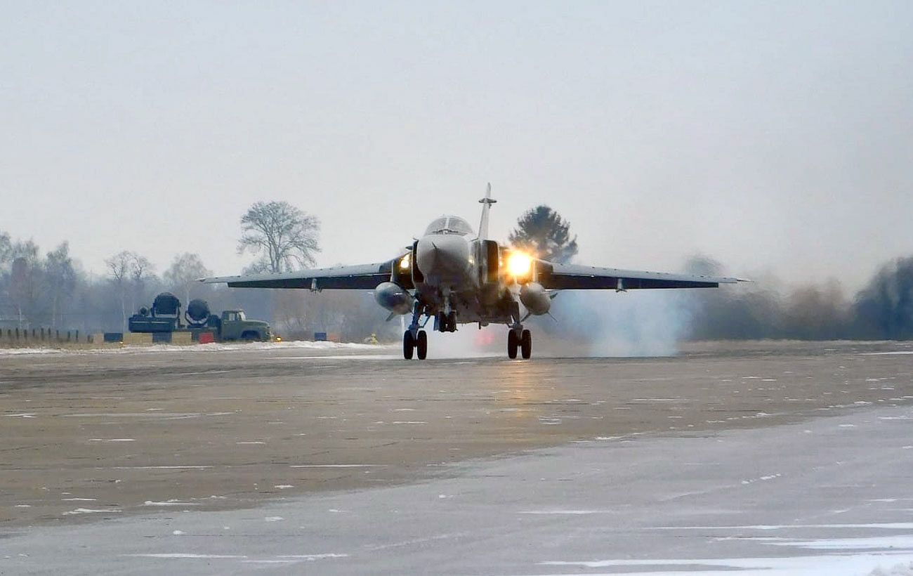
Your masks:
<path fill-rule="evenodd" d="M 288 202 L 257 202 L 241 216 L 244 235 L 237 253 L 251 252 L 258 259 L 249 272 L 287 272 L 313 266 L 320 252 L 320 220 Z"/>

